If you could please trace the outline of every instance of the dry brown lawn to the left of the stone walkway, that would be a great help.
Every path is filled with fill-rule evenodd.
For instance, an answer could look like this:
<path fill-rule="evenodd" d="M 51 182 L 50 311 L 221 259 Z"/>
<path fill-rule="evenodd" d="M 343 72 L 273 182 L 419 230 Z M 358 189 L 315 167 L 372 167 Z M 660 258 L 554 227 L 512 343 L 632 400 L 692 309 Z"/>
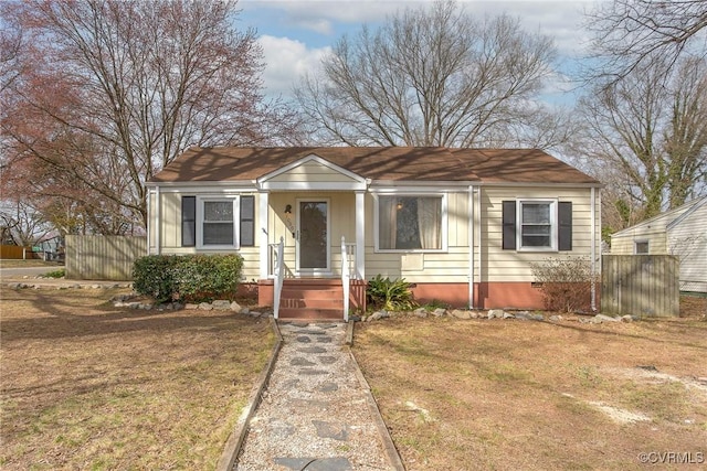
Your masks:
<path fill-rule="evenodd" d="M 212 469 L 274 342 L 267 320 L 135 311 L 116 290 L 3 288 L 2 469 Z"/>

